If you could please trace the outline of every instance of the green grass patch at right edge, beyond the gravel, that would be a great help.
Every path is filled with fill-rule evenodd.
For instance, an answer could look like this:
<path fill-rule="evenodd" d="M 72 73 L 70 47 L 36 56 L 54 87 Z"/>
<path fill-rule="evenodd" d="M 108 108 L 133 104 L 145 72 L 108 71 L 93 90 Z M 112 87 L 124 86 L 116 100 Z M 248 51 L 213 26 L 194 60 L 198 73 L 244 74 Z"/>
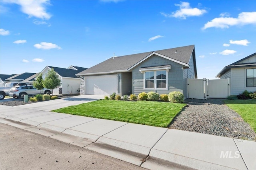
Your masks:
<path fill-rule="evenodd" d="M 224 103 L 236 111 L 256 132 L 256 100 L 224 100 Z"/>

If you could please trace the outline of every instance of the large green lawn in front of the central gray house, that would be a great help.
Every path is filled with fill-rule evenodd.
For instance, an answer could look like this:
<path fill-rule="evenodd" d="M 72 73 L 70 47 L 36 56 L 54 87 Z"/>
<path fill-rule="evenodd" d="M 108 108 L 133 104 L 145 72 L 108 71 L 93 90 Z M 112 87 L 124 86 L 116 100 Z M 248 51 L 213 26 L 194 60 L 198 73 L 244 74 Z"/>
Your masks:
<path fill-rule="evenodd" d="M 186 104 L 150 101 L 97 100 L 54 110 L 59 113 L 167 127 Z"/>

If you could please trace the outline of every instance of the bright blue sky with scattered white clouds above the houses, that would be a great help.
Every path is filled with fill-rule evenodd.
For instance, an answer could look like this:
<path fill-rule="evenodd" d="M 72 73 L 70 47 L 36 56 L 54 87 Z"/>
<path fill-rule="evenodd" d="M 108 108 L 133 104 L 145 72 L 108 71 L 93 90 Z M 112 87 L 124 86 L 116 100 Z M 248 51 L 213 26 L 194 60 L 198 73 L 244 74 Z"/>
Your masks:
<path fill-rule="evenodd" d="M 256 52 L 256 1 L 0 0 L 0 74 L 195 45 L 198 78 Z"/>

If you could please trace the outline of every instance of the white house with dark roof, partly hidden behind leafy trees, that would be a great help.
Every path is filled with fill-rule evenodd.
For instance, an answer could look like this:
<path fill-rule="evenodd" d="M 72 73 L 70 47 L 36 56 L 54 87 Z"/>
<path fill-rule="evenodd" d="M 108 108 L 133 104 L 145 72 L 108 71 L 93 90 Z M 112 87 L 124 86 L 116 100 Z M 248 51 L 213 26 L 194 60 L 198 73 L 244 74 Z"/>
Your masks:
<path fill-rule="evenodd" d="M 53 66 L 46 66 L 44 70 L 41 71 L 43 74 L 43 79 L 45 74 L 54 69 L 57 72 L 58 76 L 61 79 L 62 85 L 57 89 L 54 89 L 54 94 L 77 94 L 80 92 L 80 77 L 76 76 L 79 72 L 86 70 L 87 68 L 78 67 L 78 66 L 69 66 L 68 68 L 60 68 Z"/>

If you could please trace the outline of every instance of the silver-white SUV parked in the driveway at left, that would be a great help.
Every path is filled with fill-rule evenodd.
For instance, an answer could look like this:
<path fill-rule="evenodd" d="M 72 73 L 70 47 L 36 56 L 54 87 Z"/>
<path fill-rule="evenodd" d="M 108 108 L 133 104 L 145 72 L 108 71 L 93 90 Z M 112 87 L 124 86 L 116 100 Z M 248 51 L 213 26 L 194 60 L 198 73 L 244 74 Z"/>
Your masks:
<path fill-rule="evenodd" d="M 9 96 L 13 98 L 21 98 L 24 99 L 24 96 L 27 94 L 28 96 L 34 96 L 36 94 L 51 94 L 52 90 L 43 88 L 42 90 L 37 90 L 34 86 L 20 86 L 18 88 L 12 88 L 9 91 Z"/>

